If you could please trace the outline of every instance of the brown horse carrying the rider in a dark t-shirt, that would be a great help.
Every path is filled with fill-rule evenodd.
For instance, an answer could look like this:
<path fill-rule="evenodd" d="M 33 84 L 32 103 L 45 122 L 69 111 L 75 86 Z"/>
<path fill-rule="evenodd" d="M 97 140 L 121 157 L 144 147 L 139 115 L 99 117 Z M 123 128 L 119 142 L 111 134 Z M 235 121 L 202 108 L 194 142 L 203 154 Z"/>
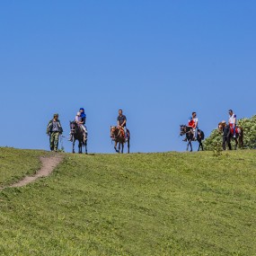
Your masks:
<path fill-rule="evenodd" d="M 115 150 L 117 153 L 120 153 L 120 146 L 122 146 L 121 148 L 121 153 L 124 153 L 124 145 L 127 141 L 128 143 L 128 153 L 129 153 L 129 139 L 130 139 L 130 132 L 127 129 L 127 139 L 125 139 L 125 133 L 123 128 L 118 128 L 118 127 L 110 127 L 110 137 L 112 138 L 112 140 L 115 142 Z M 119 144 L 119 149 L 117 148 Z"/>

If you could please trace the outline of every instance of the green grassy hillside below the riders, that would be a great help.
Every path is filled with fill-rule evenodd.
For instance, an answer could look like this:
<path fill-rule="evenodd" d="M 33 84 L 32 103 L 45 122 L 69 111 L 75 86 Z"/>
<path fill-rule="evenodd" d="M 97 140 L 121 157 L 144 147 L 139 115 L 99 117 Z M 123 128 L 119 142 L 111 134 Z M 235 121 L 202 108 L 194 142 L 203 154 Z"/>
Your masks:
<path fill-rule="evenodd" d="M 0 152 L 13 177 L 49 154 Z M 256 151 L 63 155 L 0 190 L 0 255 L 256 255 Z"/>

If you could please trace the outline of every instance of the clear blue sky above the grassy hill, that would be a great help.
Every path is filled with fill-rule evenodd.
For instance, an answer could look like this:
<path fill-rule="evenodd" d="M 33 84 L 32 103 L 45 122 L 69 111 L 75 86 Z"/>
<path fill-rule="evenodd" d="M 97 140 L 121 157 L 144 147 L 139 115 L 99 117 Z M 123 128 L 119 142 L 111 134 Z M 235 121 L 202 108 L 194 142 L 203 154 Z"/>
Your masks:
<path fill-rule="evenodd" d="M 131 152 L 185 150 L 192 111 L 207 136 L 229 109 L 252 117 L 255 13 L 250 0 L 1 1 L 0 145 L 49 150 L 52 114 L 68 136 L 80 107 L 91 153 L 113 152 L 119 108 Z"/>

